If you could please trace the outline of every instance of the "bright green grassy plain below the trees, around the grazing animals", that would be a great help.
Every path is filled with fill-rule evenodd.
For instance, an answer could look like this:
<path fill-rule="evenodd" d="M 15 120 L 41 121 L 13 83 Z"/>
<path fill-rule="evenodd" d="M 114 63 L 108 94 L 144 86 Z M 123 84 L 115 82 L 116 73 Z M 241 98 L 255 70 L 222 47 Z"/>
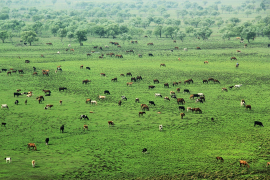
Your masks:
<path fill-rule="evenodd" d="M 247 48 L 238 40 L 213 37 L 204 41 L 187 37 L 184 42 L 177 40 L 174 44 L 165 38 L 133 39 L 138 44 L 122 44 L 119 39 L 88 39 L 83 46 L 72 42 L 74 52 L 65 52 L 69 42 L 57 38 L 41 38 L 32 46 L 21 45 L 19 39 L 0 43 L 0 68 L 24 71 L 23 75 L 0 73 L 0 103 L 9 106 L 0 110 L 1 122 L 6 122 L 6 127 L 0 127 L 0 179 L 270 178 L 269 168 L 265 167 L 270 151 L 270 65 L 266 37 L 256 38 Z M 119 42 L 122 48 L 110 45 L 109 41 Z M 46 42 L 53 45 L 47 46 Z M 147 46 L 147 42 L 154 45 Z M 94 50 L 95 45 L 103 50 L 95 50 L 87 57 L 86 53 Z M 179 49 L 174 50 L 174 46 Z M 130 49 L 135 53 L 125 52 Z M 109 52 L 122 54 L 123 58 L 106 56 Z M 99 59 L 101 53 L 104 57 Z M 142 58 L 138 58 L 138 53 Z M 237 61 L 230 60 L 231 56 Z M 24 63 L 26 59 L 30 63 Z M 204 64 L 204 60 L 209 64 Z M 237 69 L 236 62 L 240 64 Z M 166 67 L 160 67 L 160 63 Z M 54 72 L 57 65 L 61 65 L 62 72 Z M 84 67 L 80 69 L 80 65 Z M 32 75 L 33 66 L 37 76 Z M 85 69 L 86 66 L 91 70 Z M 49 69 L 49 76 L 42 76 L 41 69 Z M 106 77 L 101 77 L 101 72 Z M 130 76 L 120 77 L 126 72 L 133 77 L 141 75 L 142 80 L 126 86 Z M 111 82 L 114 77 L 117 82 Z M 202 79 L 210 77 L 220 84 L 202 83 Z M 184 84 L 189 78 L 194 83 Z M 91 82 L 82 84 L 84 79 Z M 153 79 L 160 83 L 153 84 Z M 176 100 L 164 101 L 154 96 L 154 93 L 169 96 L 171 90 L 176 91 L 174 81 L 182 81 L 176 96 L 184 98 L 184 107 L 200 107 L 202 113 L 185 110 L 184 118 L 180 119 L 183 111 L 178 110 Z M 169 88 L 164 88 L 164 83 L 169 83 Z M 222 87 L 235 84 L 242 86 L 221 92 Z M 149 90 L 148 85 L 156 87 Z M 67 90 L 59 92 L 58 87 Z M 32 91 L 34 95 L 13 97 L 16 89 Z M 35 97 L 44 95 L 42 89 L 51 90 L 51 96 L 44 96 L 45 100 L 39 104 Z M 182 93 L 183 89 L 189 89 L 191 94 L 204 93 L 205 102 L 195 103 L 189 99 L 190 94 Z M 109 90 L 110 95 L 98 100 L 104 90 Z M 118 106 L 121 95 L 127 100 Z M 86 98 L 97 100 L 97 105 L 85 104 Z M 135 98 L 140 102 L 135 103 Z M 18 105 L 14 104 L 16 99 Z M 241 99 L 252 109 L 240 107 Z M 140 104 L 148 104 L 149 100 L 156 105 L 149 105 L 149 111 L 138 117 L 138 111 L 142 111 Z M 45 104 L 54 106 L 44 110 Z M 89 120 L 80 120 L 81 114 L 86 114 Z M 115 125 L 108 127 L 108 120 Z M 264 127 L 254 127 L 254 120 L 261 121 Z M 62 124 L 64 133 L 59 132 Z M 83 130 L 83 124 L 88 124 L 88 131 Z M 159 124 L 163 125 L 161 132 Z M 46 137 L 50 139 L 47 146 Z M 29 142 L 36 144 L 36 151 L 26 149 Z M 147 148 L 148 154 L 141 153 L 143 148 Z M 217 162 L 216 156 L 223 157 L 224 162 Z M 12 162 L 6 163 L 4 157 L 12 157 Z M 35 168 L 31 160 L 36 162 Z M 250 168 L 239 167 L 239 160 L 246 160 Z"/>

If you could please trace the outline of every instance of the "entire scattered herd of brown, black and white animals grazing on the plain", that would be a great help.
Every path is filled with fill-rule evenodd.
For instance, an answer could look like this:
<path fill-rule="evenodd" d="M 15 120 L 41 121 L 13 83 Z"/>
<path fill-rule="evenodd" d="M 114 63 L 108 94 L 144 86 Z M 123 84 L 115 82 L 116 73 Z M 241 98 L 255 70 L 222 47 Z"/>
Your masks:
<path fill-rule="evenodd" d="M 175 40 L 173 41 L 173 42 L 176 42 Z M 120 47 L 119 46 L 119 44 L 117 43 L 117 42 L 110 42 L 111 44 L 114 44 L 114 45 L 117 45 L 117 47 Z M 131 41 L 131 43 L 137 43 L 137 41 Z M 46 43 L 46 44 L 48 44 L 48 45 L 52 45 L 52 43 Z M 153 43 L 147 43 L 147 45 L 153 45 Z M 68 45 L 69 47 L 70 47 L 70 45 Z M 269 46 L 269 44 L 268 44 L 268 46 Z M 108 48 L 108 46 L 105 46 L 106 48 Z M 94 46 L 93 48 L 98 48 L 98 46 Z M 99 49 L 101 49 L 102 50 L 102 47 L 99 47 Z M 174 49 L 176 49 L 176 48 L 174 48 Z M 178 49 L 178 47 L 177 47 L 177 49 Z M 197 47 L 197 49 L 200 49 L 200 47 Z M 185 50 L 185 51 L 187 51 L 187 48 L 184 48 L 183 50 Z M 74 49 L 72 49 L 72 51 L 74 51 Z M 92 52 L 94 52 L 94 51 L 92 51 Z M 128 52 L 130 53 L 130 52 L 133 52 L 133 50 L 128 50 Z M 59 51 L 57 52 L 57 54 L 59 54 Z M 87 56 L 88 55 L 91 55 L 90 53 L 87 53 Z M 109 53 L 109 54 L 107 54 L 107 55 L 110 55 L 110 56 L 114 56 L 114 53 Z M 149 56 L 153 56 L 153 54 L 152 53 L 149 53 L 148 54 Z M 42 56 L 42 55 L 41 55 Z M 103 54 L 101 55 L 102 57 L 103 57 Z M 102 58 L 101 56 L 99 56 L 100 58 Z M 119 55 L 119 54 L 116 54 L 115 55 L 116 57 L 122 57 L 122 55 Z M 141 54 L 139 54 L 138 55 L 139 57 L 141 57 L 142 55 Z M 231 57 L 231 59 L 236 59 L 235 57 Z M 29 60 L 25 60 L 25 63 L 29 63 Z M 204 63 L 208 63 L 208 61 L 204 61 Z M 161 66 L 163 66 L 163 67 L 165 67 L 165 64 L 164 63 L 160 63 L 160 67 Z M 83 68 L 83 65 L 81 65 L 80 66 L 80 68 Z M 35 71 L 35 67 L 33 67 L 33 69 L 34 69 L 34 73 L 32 74 L 32 75 L 37 75 L 37 72 Z M 86 67 L 86 69 L 88 69 L 88 70 L 90 70 L 90 67 Z M 5 69 L 5 68 L 2 68 L 1 69 L 2 71 L 6 71 L 7 69 Z M 12 70 L 12 71 L 8 71 L 7 72 L 7 75 L 11 75 L 11 72 L 12 73 L 16 73 L 16 71 L 17 70 L 14 70 L 14 69 L 12 69 L 12 68 L 10 68 L 9 70 Z M 60 68 L 60 66 L 57 66 L 57 70 L 62 70 L 61 68 Z M 57 70 L 55 70 L 55 72 L 57 72 Z M 23 72 L 23 70 L 22 69 L 19 69 L 18 70 L 18 73 L 24 73 Z M 49 74 L 49 70 L 45 70 L 45 69 L 43 69 L 42 70 L 42 74 L 43 74 L 43 76 L 44 75 L 46 75 L 46 76 L 48 76 L 48 74 Z M 106 76 L 105 75 L 105 73 L 100 73 L 100 76 Z M 124 76 L 124 74 L 120 74 L 120 76 Z M 138 80 L 142 80 L 142 77 L 141 76 L 136 76 L 136 78 L 135 77 L 132 77 L 132 74 L 130 73 L 130 72 L 127 72 L 126 73 L 126 76 L 131 76 L 131 82 L 126 82 L 126 85 L 127 86 L 132 86 L 132 84 L 134 83 L 134 82 L 136 82 L 136 81 L 138 81 Z M 114 77 L 114 78 L 112 78 L 111 79 L 111 82 L 117 82 L 117 77 Z M 88 79 L 85 79 L 85 80 L 82 80 L 82 84 L 87 84 L 88 82 L 91 82 L 91 80 L 88 80 Z M 213 83 L 220 83 L 217 79 L 213 79 L 213 78 L 208 78 L 208 79 L 203 79 L 202 80 L 202 83 L 208 83 L 208 82 L 213 82 Z M 159 83 L 159 80 L 158 79 L 153 79 L 153 83 L 154 84 L 158 84 Z M 178 82 L 172 82 L 172 86 L 177 86 L 177 85 L 179 85 L 181 83 L 181 81 L 178 81 Z M 193 83 L 193 80 L 190 78 L 190 79 L 187 79 L 187 80 L 184 80 L 184 84 L 190 84 L 190 83 Z M 228 88 L 229 89 L 232 89 L 232 87 L 234 87 L 235 89 L 238 89 L 240 86 L 242 86 L 242 84 L 236 84 L 236 85 L 234 85 L 234 86 L 228 86 Z M 155 86 L 154 85 L 148 85 L 148 90 L 151 90 L 151 89 L 154 89 L 155 88 Z M 168 83 L 164 83 L 164 88 L 169 88 L 169 84 Z M 67 90 L 67 88 L 66 87 L 59 87 L 59 92 L 62 92 L 62 91 L 64 91 L 64 90 Z M 33 95 L 33 93 L 32 93 L 32 91 L 29 91 L 29 92 L 20 92 L 21 91 L 21 89 L 16 89 L 16 92 L 13 92 L 13 97 L 15 97 L 15 96 L 20 96 L 20 95 L 23 95 L 23 94 L 26 94 L 26 96 L 27 97 L 31 97 L 32 95 Z M 45 96 L 50 96 L 50 94 L 51 94 L 51 91 L 50 90 L 44 90 L 44 89 L 42 89 L 42 91 L 44 92 L 44 95 Z M 227 88 L 226 87 L 222 87 L 221 88 L 221 91 L 222 92 L 227 92 L 228 90 L 227 90 Z M 180 92 L 180 88 L 176 88 L 176 92 L 179 94 L 179 92 Z M 190 91 L 189 91 L 189 89 L 183 89 L 183 94 L 184 93 L 190 93 Z M 104 95 L 99 95 L 98 96 L 98 99 L 99 100 L 105 100 L 106 99 L 106 94 L 107 95 L 110 95 L 110 92 L 109 92 L 109 90 L 104 90 L 104 92 L 103 92 L 103 94 Z M 177 104 L 185 104 L 185 100 L 184 100 L 184 98 L 177 98 L 176 97 L 176 93 L 174 92 L 174 91 L 170 91 L 169 92 L 169 94 L 170 94 L 170 97 L 171 97 L 171 99 L 175 99 L 176 100 L 176 103 Z M 155 97 L 161 97 L 161 98 L 163 98 L 164 99 L 164 101 L 170 101 L 170 98 L 168 97 L 168 96 L 162 96 L 161 95 L 161 93 L 154 93 L 154 96 Z M 203 93 L 193 93 L 193 94 L 190 94 L 190 96 L 189 96 L 189 99 L 191 100 L 193 100 L 194 99 L 194 97 L 195 97 L 195 103 L 197 103 L 197 102 L 199 102 L 199 103 L 205 103 L 205 96 L 204 96 L 204 94 Z M 42 96 L 42 95 L 40 95 L 40 96 L 37 96 L 36 97 L 36 100 L 38 100 L 38 103 L 41 103 L 42 101 L 41 100 L 44 100 L 44 97 Z M 118 101 L 118 105 L 119 106 L 121 106 L 121 104 L 122 104 L 122 100 L 127 100 L 127 97 L 126 96 L 124 96 L 124 95 L 121 95 L 121 100 L 119 100 Z M 14 102 L 16 105 L 19 103 L 19 101 L 18 100 L 15 100 L 15 102 Z M 90 98 L 87 98 L 86 100 L 85 100 L 85 104 L 95 104 L 95 105 L 97 105 L 97 101 L 96 100 L 92 100 L 92 99 L 90 99 Z M 139 103 L 139 98 L 135 98 L 135 103 Z M 27 104 L 27 99 L 25 100 L 25 104 Z M 61 105 L 62 104 L 62 100 L 59 100 L 59 104 Z M 149 106 L 155 106 L 156 105 L 156 103 L 154 103 L 154 101 L 152 101 L 152 100 L 149 100 L 148 101 L 148 105 L 147 104 L 144 104 L 144 103 L 141 103 L 140 104 L 140 109 L 142 109 L 143 111 L 139 111 L 138 112 L 138 117 L 142 117 L 143 116 L 143 114 L 146 114 L 146 112 L 145 112 L 145 110 L 146 111 L 149 111 Z M 241 101 L 240 101 L 240 106 L 245 106 L 245 110 L 247 110 L 247 109 L 249 109 L 249 110 L 251 110 L 251 105 L 250 104 L 245 104 L 245 101 L 242 99 Z M 53 107 L 53 105 L 52 104 L 46 104 L 46 106 L 44 107 L 44 109 L 48 109 L 48 108 L 51 108 L 51 107 Z M 6 109 L 8 109 L 8 105 L 7 104 L 1 104 L 1 109 L 3 109 L 3 108 L 6 108 Z M 188 112 L 188 111 L 192 111 L 192 113 L 195 111 L 195 114 L 196 113 L 202 113 L 202 110 L 199 108 L 199 107 L 196 107 L 196 108 L 193 108 L 193 107 L 184 107 L 184 106 L 178 106 L 178 110 L 179 111 L 182 111 L 179 115 L 180 115 L 180 118 L 183 118 L 184 116 L 185 116 L 185 113 L 183 112 L 183 111 L 185 111 L 186 110 L 186 113 Z M 91 111 L 90 111 L 91 112 Z M 91 112 L 92 113 L 92 112 Z M 156 112 L 156 113 L 161 113 L 160 111 L 159 112 Z M 82 114 L 82 115 L 80 115 L 80 120 L 89 120 L 89 118 L 88 118 L 88 116 L 87 115 L 85 115 L 85 114 Z M 114 125 L 114 122 L 113 121 L 108 121 L 107 122 L 108 123 L 108 127 L 109 126 L 113 126 Z M 6 122 L 2 122 L 1 123 L 1 126 L 2 125 L 6 125 Z M 260 122 L 260 121 L 254 121 L 254 126 L 255 125 L 258 125 L 258 126 L 262 126 L 263 127 L 263 125 L 262 125 L 262 122 Z M 160 124 L 159 126 L 159 131 L 162 131 L 162 129 L 163 129 L 163 126 L 162 126 L 162 124 Z M 64 125 L 61 125 L 60 126 L 60 132 L 63 132 L 63 130 L 64 130 Z M 83 130 L 88 130 L 88 125 L 87 124 L 83 124 Z M 49 138 L 47 137 L 46 139 L 45 139 L 45 144 L 47 145 L 48 144 L 48 141 L 49 141 Z M 35 147 L 35 150 L 36 150 L 36 146 L 35 146 L 35 144 L 33 143 L 33 145 L 34 146 L 32 146 L 33 148 Z M 29 144 L 28 144 L 28 147 L 29 147 Z M 27 147 L 27 148 L 28 148 Z M 33 150 L 33 149 L 32 149 Z M 146 148 L 143 148 L 143 150 L 142 150 L 142 153 L 147 153 L 147 149 Z M 9 160 L 9 162 L 11 162 L 11 157 L 6 157 L 5 158 L 6 159 L 6 162 L 7 162 L 7 160 Z M 223 158 L 222 157 L 219 157 L 219 156 L 217 156 L 216 157 L 216 160 L 220 160 L 220 161 L 224 161 L 223 160 Z M 32 161 L 32 164 L 33 164 L 33 167 L 34 167 L 34 160 Z M 244 166 L 247 166 L 247 167 L 249 167 L 249 165 L 248 165 L 248 163 L 246 162 L 246 161 L 243 161 L 243 160 L 240 160 L 239 161 L 239 163 L 240 163 L 240 166 L 241 166 L 241 164 L 243 164 Z M 270 162 L 267 162 L 267 165 L 269 165 L 270 164 Z M 266 166 L 267 166 L 266 165 Z"/>

